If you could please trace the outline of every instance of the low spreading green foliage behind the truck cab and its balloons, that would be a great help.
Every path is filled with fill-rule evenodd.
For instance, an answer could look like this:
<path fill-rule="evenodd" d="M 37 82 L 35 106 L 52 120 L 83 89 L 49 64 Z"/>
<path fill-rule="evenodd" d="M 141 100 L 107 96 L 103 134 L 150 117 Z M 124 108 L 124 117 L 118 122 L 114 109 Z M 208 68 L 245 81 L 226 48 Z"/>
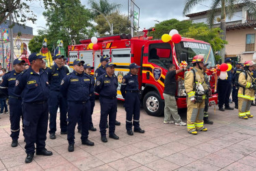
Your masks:
<path fill-rule="evenodd" d="M 185 20 L 185 21 L 179 21 L 175 18 L 162 21 L 160 23 L 155 24 L 155 31 L 151 31 L 151 34 L 149 36 L 153 36 L 154 39 L 161 39 L 163 34 L 169 34 L 170 30 L 177 29 L 179 31 L 179 34 L 183 36 L 186 32 L 188 32 L 188 29 L 192 26 L 194 27 L 200 27 L 205 24 L 198 23 L 198 24 L 192 24 L 192 21 Z"/>

